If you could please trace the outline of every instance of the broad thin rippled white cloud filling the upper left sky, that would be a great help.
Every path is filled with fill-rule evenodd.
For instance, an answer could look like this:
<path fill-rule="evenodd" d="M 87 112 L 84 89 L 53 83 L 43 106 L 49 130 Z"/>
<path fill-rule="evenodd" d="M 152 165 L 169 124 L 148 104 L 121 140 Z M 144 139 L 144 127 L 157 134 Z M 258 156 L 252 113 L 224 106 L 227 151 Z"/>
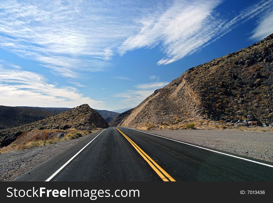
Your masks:
<path fill-rule="evenodd" d="M 1 1 L 0 47 L 66 77 L 104 70 L 114 49 L 136 29 L 141 8 L 134 4 Z"/>

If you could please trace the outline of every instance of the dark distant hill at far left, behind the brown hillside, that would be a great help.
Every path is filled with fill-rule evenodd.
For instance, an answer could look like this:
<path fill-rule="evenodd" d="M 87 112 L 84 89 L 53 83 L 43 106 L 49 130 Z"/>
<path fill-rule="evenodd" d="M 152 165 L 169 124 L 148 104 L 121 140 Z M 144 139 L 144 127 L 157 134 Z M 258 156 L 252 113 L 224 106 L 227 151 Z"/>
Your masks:
<path fill-rule="evenodd" d="M 0 106 L 0 129 L 32 123 L 54 115 L 55 113 L 35 109 Z"/>

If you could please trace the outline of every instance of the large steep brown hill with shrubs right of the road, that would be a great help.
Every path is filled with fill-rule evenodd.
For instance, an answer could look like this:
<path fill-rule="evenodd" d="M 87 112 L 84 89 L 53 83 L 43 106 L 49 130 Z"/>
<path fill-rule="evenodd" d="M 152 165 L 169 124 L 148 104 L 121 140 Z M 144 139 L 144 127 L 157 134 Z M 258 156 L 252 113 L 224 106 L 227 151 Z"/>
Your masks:
<path fill-rule="evenodd" d="M 206 120 L 273 122 L 273 34 L 190 68 L 154 91 L 120 126 L 143 129 Z"/>

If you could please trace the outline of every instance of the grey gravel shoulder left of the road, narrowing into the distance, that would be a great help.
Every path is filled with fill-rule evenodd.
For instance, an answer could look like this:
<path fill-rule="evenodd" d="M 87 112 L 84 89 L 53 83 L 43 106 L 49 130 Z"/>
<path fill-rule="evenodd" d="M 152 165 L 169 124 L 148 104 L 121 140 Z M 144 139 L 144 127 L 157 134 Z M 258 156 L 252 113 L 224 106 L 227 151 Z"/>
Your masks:
<path fill-rule="evenodd" d="M 92 134 L 47 146 L 0 154 L 0 181 L 11 181 Z"/>

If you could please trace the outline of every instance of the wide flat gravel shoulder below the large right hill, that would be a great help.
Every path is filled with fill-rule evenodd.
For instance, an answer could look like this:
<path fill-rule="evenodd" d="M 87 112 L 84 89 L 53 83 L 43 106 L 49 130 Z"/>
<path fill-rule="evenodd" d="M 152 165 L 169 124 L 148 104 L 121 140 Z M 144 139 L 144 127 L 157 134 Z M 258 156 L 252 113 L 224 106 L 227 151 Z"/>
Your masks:
<path fill-rule="evenodd" d="M 148 133 L 273 162 L 273 133 L 237 130 L 151 130 Z"/>

